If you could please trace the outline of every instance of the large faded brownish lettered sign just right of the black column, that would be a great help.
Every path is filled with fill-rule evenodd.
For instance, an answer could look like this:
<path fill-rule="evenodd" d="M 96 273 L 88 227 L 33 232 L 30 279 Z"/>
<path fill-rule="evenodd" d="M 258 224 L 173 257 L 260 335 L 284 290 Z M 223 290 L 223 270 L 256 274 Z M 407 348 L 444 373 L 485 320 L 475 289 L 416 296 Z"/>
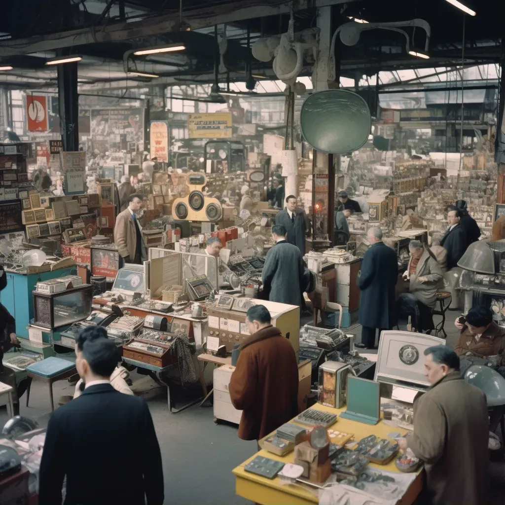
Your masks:
<path fill-rule="evenodd" d="M 120 151 L 125 142 L 143 142 L 143 124 L 144 110 L 140 108 L 91 109 L 92 149 L 100 153 Z"/>

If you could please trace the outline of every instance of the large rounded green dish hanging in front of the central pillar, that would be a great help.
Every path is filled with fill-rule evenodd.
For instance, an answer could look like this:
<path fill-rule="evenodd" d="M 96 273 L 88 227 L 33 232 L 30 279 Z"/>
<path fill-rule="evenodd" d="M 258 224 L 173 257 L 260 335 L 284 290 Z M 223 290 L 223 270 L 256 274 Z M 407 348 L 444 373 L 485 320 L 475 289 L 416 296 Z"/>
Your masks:
<path fill-rule="evenodd" d="M 301 106 L 301 133 L 323 153 L 343 154 L 359 149 L 370 135 L 372 118 L 365 100 L 346 89 L 310 95 Z"/>

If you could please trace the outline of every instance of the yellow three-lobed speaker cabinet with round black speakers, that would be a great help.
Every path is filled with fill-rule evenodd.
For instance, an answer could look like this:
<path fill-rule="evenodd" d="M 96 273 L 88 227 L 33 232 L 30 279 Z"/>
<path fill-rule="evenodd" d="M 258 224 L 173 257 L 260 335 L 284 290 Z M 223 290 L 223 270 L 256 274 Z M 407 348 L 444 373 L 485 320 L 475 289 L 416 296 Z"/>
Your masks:
<path fill-rule="evenodd" d="M 203 188 L 207 178 L 201 173 L 189 174 L 187 186 L 189 194 L 177 198 L 172 204 L 172 216 L 181 221 L 219 221 L 223 216 L 223 208 L 217 198 L 204 195 Z"/>

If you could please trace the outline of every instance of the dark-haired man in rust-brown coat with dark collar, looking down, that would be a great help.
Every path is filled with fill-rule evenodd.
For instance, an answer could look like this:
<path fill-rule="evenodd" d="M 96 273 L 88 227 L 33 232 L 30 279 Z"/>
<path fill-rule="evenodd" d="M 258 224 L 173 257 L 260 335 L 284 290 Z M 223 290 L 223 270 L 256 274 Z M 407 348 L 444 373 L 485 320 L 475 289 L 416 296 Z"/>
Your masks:
<path fill-rule="evenodd" d="M 240 346 L 229 391 L 235 409 L 243 411 L 239 438 L 259 440 L 298 414 L 298 364 L 264 305 L 251 307 L 245 321 L 250 337 Z"/>

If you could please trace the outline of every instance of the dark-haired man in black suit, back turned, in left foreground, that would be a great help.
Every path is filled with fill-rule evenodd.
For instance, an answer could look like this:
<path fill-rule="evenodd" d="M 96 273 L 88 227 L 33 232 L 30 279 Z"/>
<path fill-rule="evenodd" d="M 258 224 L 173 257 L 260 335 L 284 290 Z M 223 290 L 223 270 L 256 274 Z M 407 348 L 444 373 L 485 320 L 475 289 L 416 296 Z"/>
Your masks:
<path fill-rule="evenodd" d="M 105 336 L 104 336 L 105 335 Z M 56 410 L 40 463 L 40 505 L 162 505 L 163 469 L 153 420 L 142 398 L 116 391 L 109 377 L 118 349 L 104 328 L 77 338 L 82 394 Z M 127 462 L 133 462 L 129 465 Z"/>

